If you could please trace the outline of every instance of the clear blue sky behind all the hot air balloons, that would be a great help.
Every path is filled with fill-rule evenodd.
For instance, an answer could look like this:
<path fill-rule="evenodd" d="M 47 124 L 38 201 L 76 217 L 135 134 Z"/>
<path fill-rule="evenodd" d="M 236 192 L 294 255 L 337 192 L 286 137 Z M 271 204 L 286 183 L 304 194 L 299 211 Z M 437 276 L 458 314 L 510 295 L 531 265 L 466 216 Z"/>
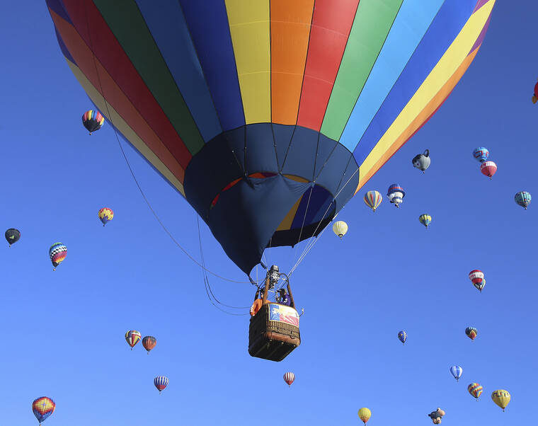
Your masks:
<path fill-rule="evenodd" d="M 536 1 L 497 2 L 452 96 L 365 186 L 384 195 L 378 211 L 361 191 L 340 213 L 350 227 L 343 241 L 328 230 L 297 269 L 302 345 L 280 363 L 250 357 L 248 316 L 207 300 L 200 268 L 145 205 L 110 126 L 91 137 L 81 126 L 91 103 L 45 1 L 4 3 L 0 223 L 22 237 L 1 255 L 2 425 L 33 425 L 39 396 L 57 403 L 48 426 L 357 425 L 364 406 L 369 426 L 432 424 L 426 415 L 437 407 L 446 426 L 535 421 Z M 482 145 L 498 164 L 493 180 L 472 156 Z M 194 210 L 125 147 L 154 209 L 197 255 Z M 411 159 L 426 148 L 423 175 Z M 400 209 L 385 197 L 391 183 L 407 192 Z M 519 190 L 537 205 L 518 207 Z M 105 228 L 101 207 L 115 212 Z M 433 217 L 428 231 L 422 213 Z M 68 253 L 52 272 L 55 241 Z M 202 241 L 210 269 L 244 278 L 205 225 Z M 268 261 L 288 270 L 294 254 L 273 250 Z M 486 273 L 482 294 L 467 277 L 475 268 Z M 210 283 L 224 303 L 251 304 L 248 284 Z M 132 328 L 156 336 L 151 355 L 140 344 L 129 350 Z M 452 364 L 464 369 L 459 383 Z M 160 374 L 170 379 L 161 396 Z M 484 387 L 479 403 L 467 393 L 472 381 Z M 491 401 L 498 388 L 512 395 L 505 413 Z"/>

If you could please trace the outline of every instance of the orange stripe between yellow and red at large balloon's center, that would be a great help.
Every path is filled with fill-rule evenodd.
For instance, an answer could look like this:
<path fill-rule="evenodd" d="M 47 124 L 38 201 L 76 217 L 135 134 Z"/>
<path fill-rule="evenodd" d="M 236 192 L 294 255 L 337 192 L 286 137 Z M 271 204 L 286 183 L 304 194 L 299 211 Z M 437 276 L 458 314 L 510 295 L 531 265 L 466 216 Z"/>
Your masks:
<path fill-rule="evenodd" d="M 271 120 L 294 125 L 314 0 L 271 0 Z"/>

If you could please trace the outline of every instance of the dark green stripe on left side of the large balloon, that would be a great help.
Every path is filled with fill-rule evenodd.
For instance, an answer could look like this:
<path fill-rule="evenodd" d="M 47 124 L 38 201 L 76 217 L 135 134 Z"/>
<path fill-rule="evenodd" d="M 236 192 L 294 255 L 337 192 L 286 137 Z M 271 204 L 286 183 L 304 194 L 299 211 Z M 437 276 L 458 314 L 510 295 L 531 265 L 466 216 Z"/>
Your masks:
<path fill-rule="evenodd" d="M 204 141 L 134 0 L 93 0 L 183 143 L 195 155 Z"/>

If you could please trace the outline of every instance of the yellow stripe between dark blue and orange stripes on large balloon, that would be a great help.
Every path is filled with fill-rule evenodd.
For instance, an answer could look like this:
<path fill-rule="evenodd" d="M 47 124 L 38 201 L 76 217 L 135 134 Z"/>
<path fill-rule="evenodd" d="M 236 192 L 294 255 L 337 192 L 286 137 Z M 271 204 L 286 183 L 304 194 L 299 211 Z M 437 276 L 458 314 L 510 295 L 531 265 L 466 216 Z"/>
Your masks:
<path fill-rule="evenodd" d="M 269 0 L 226 0 L 246 124 L 271 121 Z"/>

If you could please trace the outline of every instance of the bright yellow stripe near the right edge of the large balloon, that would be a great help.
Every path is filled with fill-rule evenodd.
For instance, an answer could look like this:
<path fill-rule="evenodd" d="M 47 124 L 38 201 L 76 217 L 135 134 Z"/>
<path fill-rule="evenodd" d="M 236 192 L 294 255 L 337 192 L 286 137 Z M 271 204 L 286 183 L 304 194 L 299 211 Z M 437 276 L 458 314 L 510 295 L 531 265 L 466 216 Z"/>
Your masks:
<path fill-rule="evenodd" d="M 418 91 L 409 100 L 407 105 L 396 117 L 391 127 L 379 139 L 374 149 L 362 162 L 359 168 L 359 175 L 365 176 L 370 169 L 382 157 L 385 151 L 389 149 L 398 137 L 404 133 L 405 129 L 415 120 L 430 100 L 440 91 L 442 86 L 457 71 L 458 67 L 466 59 L 471 47 L 473 47 L 486 21 L 488 20 L 495 0 L 488 1 L 478 11 L 473 13 L 469 21 L 464 25 L 457 38 L 452 42 L 445 54 L 437 62 L 435 68 L 430 72 Z M 360 185 L 359 185 L 360 188 Z"/>

